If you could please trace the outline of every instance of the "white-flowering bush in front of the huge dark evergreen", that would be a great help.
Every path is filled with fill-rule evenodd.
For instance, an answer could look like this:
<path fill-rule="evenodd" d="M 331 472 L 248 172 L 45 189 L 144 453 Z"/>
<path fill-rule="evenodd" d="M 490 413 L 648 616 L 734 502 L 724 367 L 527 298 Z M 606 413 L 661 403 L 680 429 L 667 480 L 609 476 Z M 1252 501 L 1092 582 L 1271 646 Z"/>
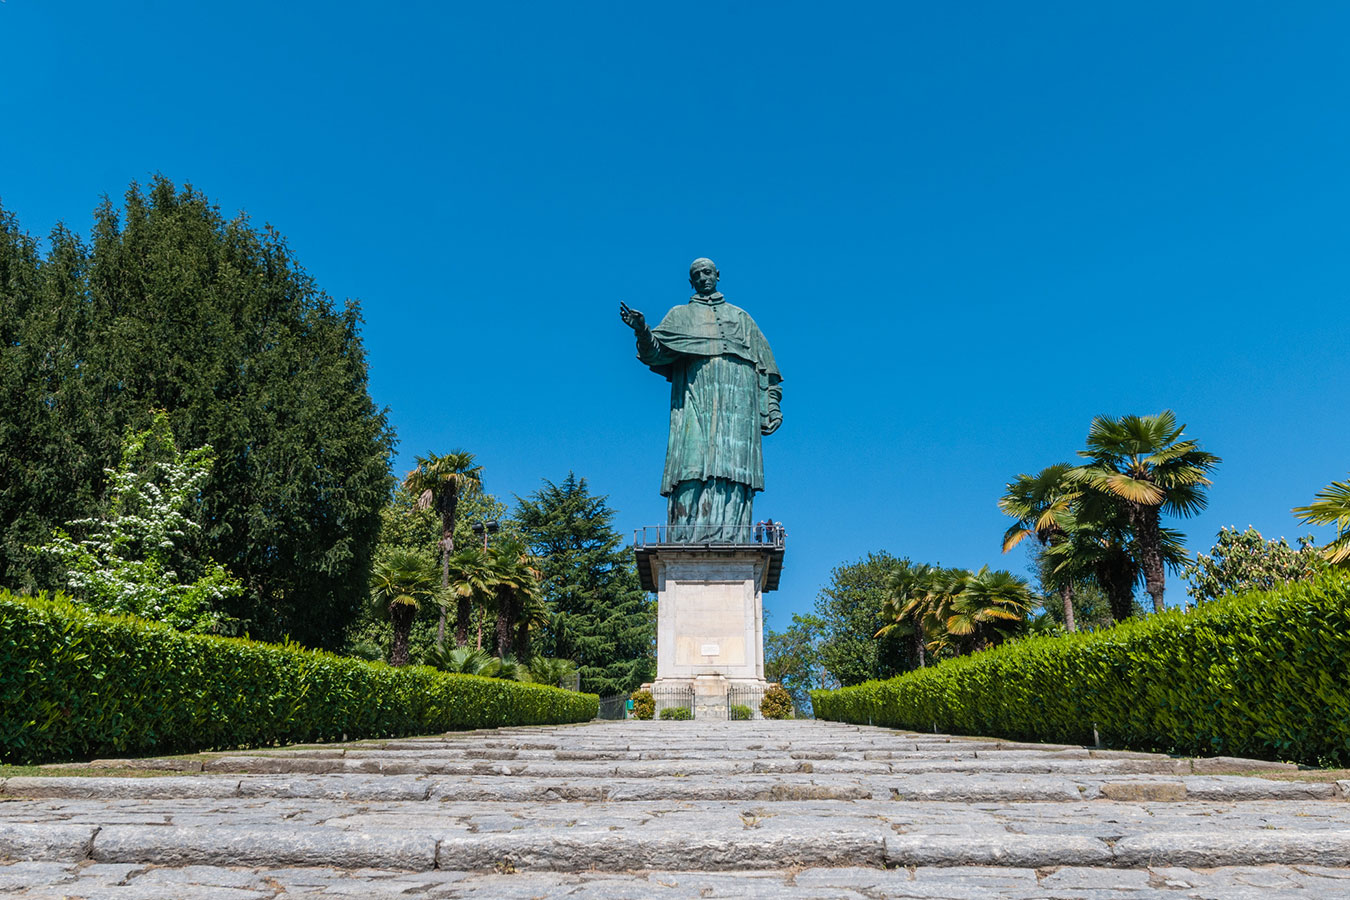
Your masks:
<path fill-rule="evenodd" d="M 122 463 L 104 470 L 108 513 L 68 522 L 40 548 L 65 568 L 72 595 L 101 613 L 139 615 L 184 631 L 217 630 L 220 610 L 243 587 L 219 563 L 185 552 L 201 529 L 189 513 L 200 503 L 213 461 L 209 444 L 180 453 L 163 412 L 148 429 L 128 433 Z M 77 541 L 70 532 L 86 537 Z"/>

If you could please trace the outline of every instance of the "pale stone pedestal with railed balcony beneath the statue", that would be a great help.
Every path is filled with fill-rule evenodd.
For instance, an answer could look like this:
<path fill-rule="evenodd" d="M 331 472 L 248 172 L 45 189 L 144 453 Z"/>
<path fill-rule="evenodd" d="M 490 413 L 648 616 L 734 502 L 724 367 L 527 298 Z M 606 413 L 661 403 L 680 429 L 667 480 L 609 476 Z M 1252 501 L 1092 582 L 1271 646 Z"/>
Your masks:
<path fill-rule="evenodd" d="M 764 680 L 765 590 L 778 587 L 783 548 L 648 545 L 637 549 L 644 587 L 655 590 L 657 708 L 693 706 L 695 718 L 726 718 L 728 692 L 759 714 Z"/>

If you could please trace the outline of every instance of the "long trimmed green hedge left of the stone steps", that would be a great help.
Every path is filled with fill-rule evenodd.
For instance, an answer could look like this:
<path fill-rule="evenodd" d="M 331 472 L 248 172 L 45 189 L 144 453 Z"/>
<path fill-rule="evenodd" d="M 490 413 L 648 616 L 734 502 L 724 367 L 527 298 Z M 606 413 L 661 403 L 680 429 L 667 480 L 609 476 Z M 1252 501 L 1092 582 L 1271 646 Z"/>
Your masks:
<path fill-rule="evenodd" d="M 182 634 L 0 592 L 0 761 L 186 753 L 595 718 L 540 684 Z"/>

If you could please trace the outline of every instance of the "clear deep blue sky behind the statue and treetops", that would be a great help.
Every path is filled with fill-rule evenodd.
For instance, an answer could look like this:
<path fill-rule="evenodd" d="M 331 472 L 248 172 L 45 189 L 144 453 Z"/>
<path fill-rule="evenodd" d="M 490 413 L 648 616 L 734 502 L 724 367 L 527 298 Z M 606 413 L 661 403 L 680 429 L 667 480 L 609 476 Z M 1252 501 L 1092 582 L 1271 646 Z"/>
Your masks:
<path fill-rule="evenodd" d="M 0 202 L 88 233 L 162 173 L 360 300 L 414 453 L 664 518 L 633 358 L 722 270 L 784 375 L 771 623 L 869 549 L 1002 557 L 1094 414 L 1219 453 L 1192 549 L 1350 470 L 1343 3 L 0 3 Z M 1326 533 L 1322 534 L 1326 538 Z M 1169 600 L 1183 586 L 1169 579 Z"/>

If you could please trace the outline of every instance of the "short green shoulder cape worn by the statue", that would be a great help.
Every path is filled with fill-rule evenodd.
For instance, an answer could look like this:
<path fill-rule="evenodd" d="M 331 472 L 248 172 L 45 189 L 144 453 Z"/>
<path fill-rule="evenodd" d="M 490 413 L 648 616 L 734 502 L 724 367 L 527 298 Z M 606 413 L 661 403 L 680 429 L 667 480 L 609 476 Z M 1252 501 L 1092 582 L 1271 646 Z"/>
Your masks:
<path fill-rule="evenodd" d="M 774 351 L 759 325 L 740 306 L 733 306 L 714 294 L 713 300 L 694 297 L 683 306 L 666 313 L 662 324 L 652 329 L 662 349 L 686 356 L 738 356 L 755 366 L 760 385 L 783 381 L 774 362 Z M 671 379 L 672 364 L 664 360 L 649 366 L 657 375 Z"/>

